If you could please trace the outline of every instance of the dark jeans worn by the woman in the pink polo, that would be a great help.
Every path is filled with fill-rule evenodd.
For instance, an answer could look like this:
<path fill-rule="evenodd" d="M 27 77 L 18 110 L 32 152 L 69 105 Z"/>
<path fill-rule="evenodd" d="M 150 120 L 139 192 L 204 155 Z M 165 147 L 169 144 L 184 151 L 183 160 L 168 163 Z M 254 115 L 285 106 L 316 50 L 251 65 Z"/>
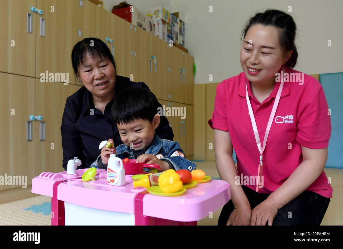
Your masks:
<path fill-rule="evenodd" d="M 269 194 L 260 194 L 242 185 L 245 195 L 250 203 L 251 210 Z M 319 226 L 328 209 L 330 199 L 312 191 L 304 191 L 298 197 L 284 205 L 277 212 L 273 225 L 315 225 Z M 227 220 L 234 210 L 232 200 L 226 203 L 220 213 L 218 225 L 226 225 Z M 291 213 L 289 213 L 291 212 Z M 268 225 L 268 222 L 267 222 Z"/>

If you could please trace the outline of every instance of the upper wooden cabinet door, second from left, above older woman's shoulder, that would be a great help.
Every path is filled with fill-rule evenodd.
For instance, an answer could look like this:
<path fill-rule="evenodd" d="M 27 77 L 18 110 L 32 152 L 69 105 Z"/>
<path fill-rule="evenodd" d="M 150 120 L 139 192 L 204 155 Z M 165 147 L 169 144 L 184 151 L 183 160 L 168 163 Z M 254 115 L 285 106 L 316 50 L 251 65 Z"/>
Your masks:
<path fill-rule="evenodd" d="M 32 12 L 36 16 L 36 47 L 31 48 L 36 51 L 36 78 L 48 79 L 48 71 L 60 76 L 54 81 L 63 82 L 61 73 L 64 80 L 68 73 L 69 83 L 75 83 L 70 55 L 78 41 L 78 1 L 37 0 L 33 6 L 43 11 L 42 15 Z"/>

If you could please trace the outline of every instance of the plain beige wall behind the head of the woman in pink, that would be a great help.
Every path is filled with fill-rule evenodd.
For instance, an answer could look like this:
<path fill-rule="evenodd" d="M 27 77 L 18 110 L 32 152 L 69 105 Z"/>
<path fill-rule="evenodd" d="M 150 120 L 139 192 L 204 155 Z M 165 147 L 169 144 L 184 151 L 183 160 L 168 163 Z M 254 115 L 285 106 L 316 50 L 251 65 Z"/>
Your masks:
<path fill-rule="evenodd" d="M 240 33 L 249 16 L 267 8 L 287 12 L 288 6 L 297 25 L 295 70 L 307 74 L 343 71 L 343 1 L 170 0 L 170 6 L 185 15 L 185 46 L 197 66 L 195 84 L 221 82 L 242 72 Z M 332 47 L 327 46 L 328 40 Z"/>

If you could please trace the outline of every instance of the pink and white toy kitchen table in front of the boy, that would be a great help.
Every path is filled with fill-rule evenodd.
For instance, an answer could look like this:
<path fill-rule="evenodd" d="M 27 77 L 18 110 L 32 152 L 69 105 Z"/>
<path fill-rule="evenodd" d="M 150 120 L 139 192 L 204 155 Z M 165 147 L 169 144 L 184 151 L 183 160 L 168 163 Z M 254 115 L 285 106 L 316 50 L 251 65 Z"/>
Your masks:
<path fill-rule="evenodd" d="M 43 172 L 32 179 L 32 193 L 52 197 L 51 225 L 196 225 L 230 200 L 229 184 L 222 180 L 162 197 L 133 188 L 131 177 L 124 186 L 110 186 L 105 169 L 97 169 L 96 180 L 82 181 L 86 170 Z"/>

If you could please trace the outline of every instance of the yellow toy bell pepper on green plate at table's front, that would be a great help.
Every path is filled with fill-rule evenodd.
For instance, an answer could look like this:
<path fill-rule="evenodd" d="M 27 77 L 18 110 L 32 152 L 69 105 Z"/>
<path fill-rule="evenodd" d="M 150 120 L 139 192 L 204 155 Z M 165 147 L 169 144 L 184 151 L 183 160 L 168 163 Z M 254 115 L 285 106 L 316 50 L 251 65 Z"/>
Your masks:
<path fill-rule="evenodd" d="M 182 188 L 182 181 L 174 169 L 168 169 L 158 177 L 158 185 L 162 192 L 174 193 Z"/>

